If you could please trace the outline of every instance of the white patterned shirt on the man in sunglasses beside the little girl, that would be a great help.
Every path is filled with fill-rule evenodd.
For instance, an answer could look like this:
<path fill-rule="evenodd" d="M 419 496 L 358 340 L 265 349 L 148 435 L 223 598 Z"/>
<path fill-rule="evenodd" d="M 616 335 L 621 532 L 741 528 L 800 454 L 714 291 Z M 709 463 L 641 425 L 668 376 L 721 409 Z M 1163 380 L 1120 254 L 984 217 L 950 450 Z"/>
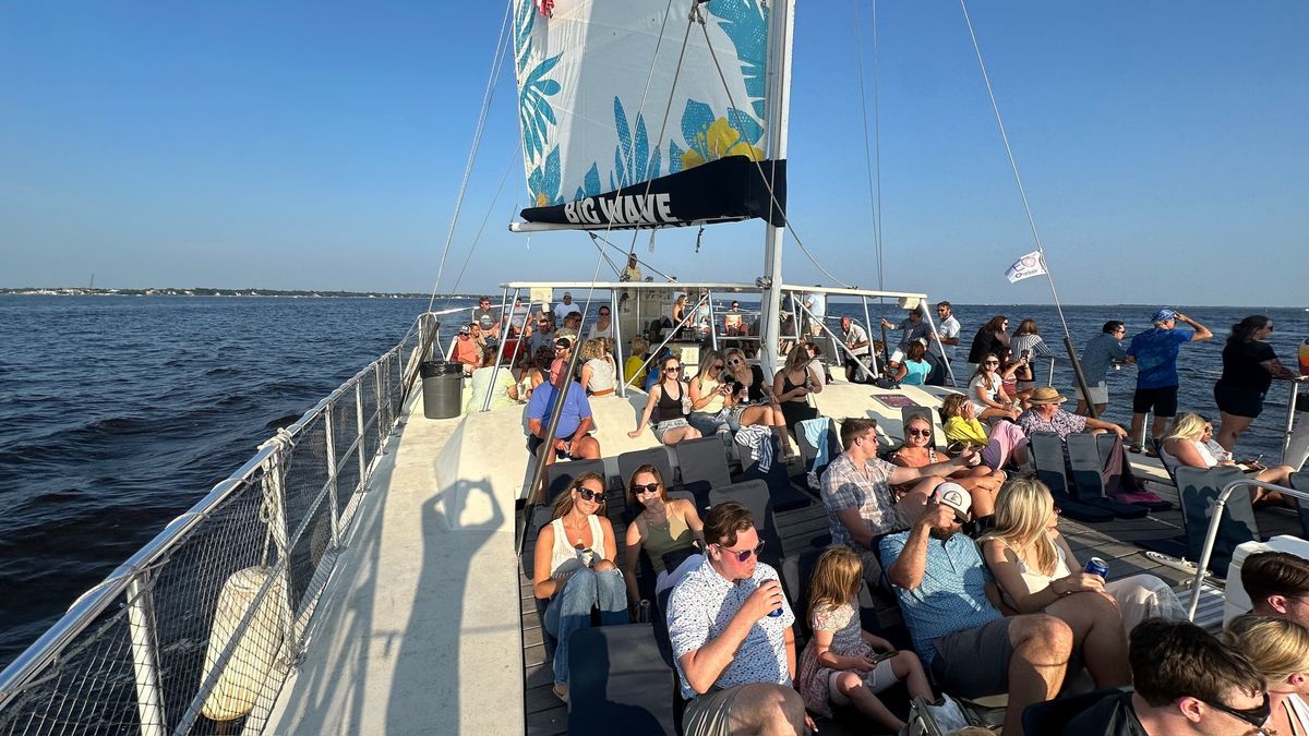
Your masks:
<path fill-rule="evenodd" d="M 766 580 L 778 580 L 778 571 L 762 562 L 747 580 L 733 583 L 719 575 L 706 557 L 699 567 L 687 572 L 673 588 L 668 602 L 668 635 L 673 644 L 677 673 L 682 678 L 683 698 L 694 698 L 696 693 L 686 685 L 682 657 L 703 647 L 709 639 L 721 636 L 732 617 L 741 610 L 741 604 Z M 754 682 L 791 685 L 785 633 L 795 622 L 791 604 L 783 600 L 781 616 L 766 616 L 750 627 L 733 655 L 732 664 L 713 685 L 723 689 Z"/>

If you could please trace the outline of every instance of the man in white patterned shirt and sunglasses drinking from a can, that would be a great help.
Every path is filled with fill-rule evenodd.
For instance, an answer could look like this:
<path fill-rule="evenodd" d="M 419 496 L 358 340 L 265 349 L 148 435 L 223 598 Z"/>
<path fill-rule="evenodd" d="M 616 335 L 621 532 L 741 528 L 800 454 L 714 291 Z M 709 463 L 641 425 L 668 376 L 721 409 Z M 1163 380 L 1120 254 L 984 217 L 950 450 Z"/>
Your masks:
<path fill-rule="evenodd" d="M 686 736 L 805 733 L 813 722 L 796 672 L 796 617 L 778 571 L 759 562 L 750 511 L 725 502 L 704 516 L 704 562 L 668 605 L 668 634 L 687 698 Z"/>

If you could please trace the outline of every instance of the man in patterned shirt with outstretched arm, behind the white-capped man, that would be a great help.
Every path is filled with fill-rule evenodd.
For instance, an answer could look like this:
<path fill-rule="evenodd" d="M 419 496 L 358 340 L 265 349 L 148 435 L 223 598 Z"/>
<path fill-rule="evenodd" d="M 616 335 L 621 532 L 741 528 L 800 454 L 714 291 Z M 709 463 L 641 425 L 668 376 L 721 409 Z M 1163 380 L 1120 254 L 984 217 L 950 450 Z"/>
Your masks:
<path fill-rule="evenodd" d="M 877 540 L 908 526 L 912 516 L 897 517 L 891 486 L 918 485 L 906 495 L 912 508 L 922 507 L 945 475 L 966 468 L 975 453 L 923 468 L 901 468 L 877 457 L 877 422 L 847 416 L 840 423 L 840 444 L 846 452 L 831 461 L 822 474 L 822 504 L 827 507 L 831 541 L 859 554 L 869 587 L 880 584 L 882 567 L 874 550 Z"/>

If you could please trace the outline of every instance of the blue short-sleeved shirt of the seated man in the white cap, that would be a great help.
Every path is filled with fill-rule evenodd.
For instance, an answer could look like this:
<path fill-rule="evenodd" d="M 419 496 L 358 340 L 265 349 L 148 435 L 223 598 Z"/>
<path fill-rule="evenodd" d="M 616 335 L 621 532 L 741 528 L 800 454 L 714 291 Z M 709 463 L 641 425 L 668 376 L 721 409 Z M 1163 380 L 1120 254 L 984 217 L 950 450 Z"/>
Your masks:
<path fill-rule="evenodd" d="M 884 570 L 890 570 L 899 559 L 908 534 L 901 532 L 882 537 Z M 895 585 L 895 597 L 914 636 L 914 648 L 924 663 L 931 664 L 936 659 L 933 640 L 1003 618 L 986 597 L 986 584 L 991 579 L 977 542 L 966 534 L 954 534 L 945 542 L 928 540 L 923 581 L 912 591 Z"/>

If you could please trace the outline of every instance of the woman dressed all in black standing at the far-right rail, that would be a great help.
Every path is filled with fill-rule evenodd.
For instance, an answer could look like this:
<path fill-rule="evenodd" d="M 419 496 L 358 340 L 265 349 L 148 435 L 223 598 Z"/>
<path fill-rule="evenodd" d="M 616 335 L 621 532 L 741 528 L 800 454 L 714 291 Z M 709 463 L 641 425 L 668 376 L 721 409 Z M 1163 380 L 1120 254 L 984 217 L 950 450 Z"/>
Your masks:
<path fill-rule="evenodd" d="M 1251 314 L 1232 325 L 1232 334 L 1223 347 L 1223 377 L 1213 384 L 1213 401 L 1223 414 L 1223 426 L 1215 439 L 1228 452 L 1263 410 L 1263 396 L 1272 378 L 1296 376 L 1272 352 L 1267 343 L 1271 335 L 1272 320 Z"/>

